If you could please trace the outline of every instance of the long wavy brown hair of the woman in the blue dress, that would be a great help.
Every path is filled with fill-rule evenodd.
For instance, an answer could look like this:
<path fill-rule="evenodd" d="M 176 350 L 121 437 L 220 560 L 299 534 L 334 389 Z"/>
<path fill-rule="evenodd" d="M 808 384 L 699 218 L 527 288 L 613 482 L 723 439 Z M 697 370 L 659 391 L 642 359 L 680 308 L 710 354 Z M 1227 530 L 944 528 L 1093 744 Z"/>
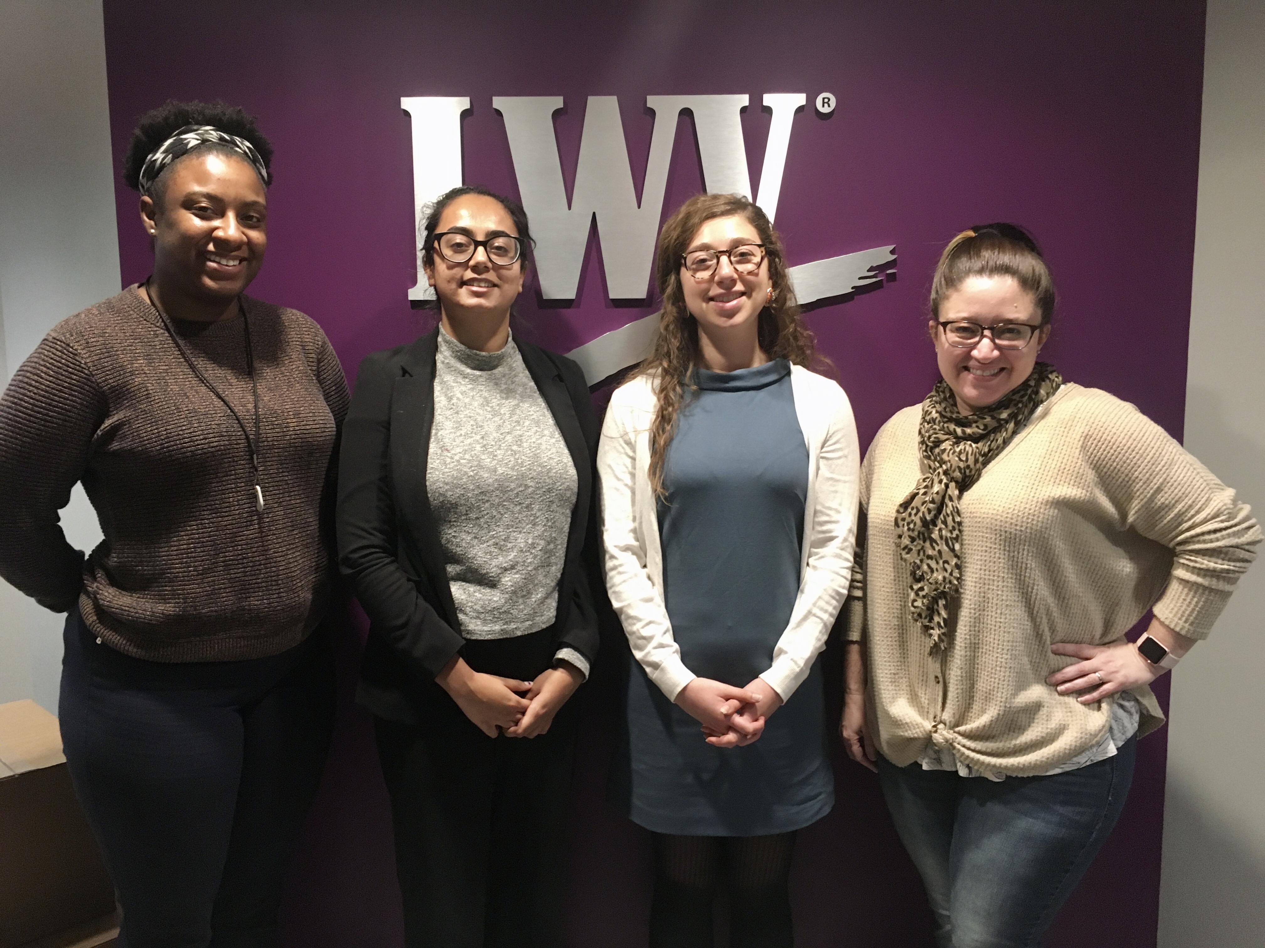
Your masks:
<path fill-rule="evenodd" d="M 796 365 L 811 368 L 818 362 L 816 337 L 803 324 L 803 315 L 794 300 L 794 289 L 787 276 L 786 253 L 782 240 L 768 216 L 741 195 L 696 195 L 681 205 L 659 231 L 659 250 L 655 255 L 655 277 L 663 312 L 659 316 L 659 337 L 654 354 L 634 373 L 648 375 L 655 387 L 654 421 L 650 426 L 650 485 L 655 497 L 663 498 L 663 464 L 668 445 L 677 431 L 677 416 L 684 404 L 687 392 L 697 394 L 693 370 L 701 363 L 698 322 L 686 308 L 681 289 L 682 255 L 693 243 L 700 228 L 716 217 L 745 217 L 760 235 L 764 254 L 769 262 L 773 283 L 773 301 L 759 315 L 760 349 L 770 359 L 788 359 Z"/>

